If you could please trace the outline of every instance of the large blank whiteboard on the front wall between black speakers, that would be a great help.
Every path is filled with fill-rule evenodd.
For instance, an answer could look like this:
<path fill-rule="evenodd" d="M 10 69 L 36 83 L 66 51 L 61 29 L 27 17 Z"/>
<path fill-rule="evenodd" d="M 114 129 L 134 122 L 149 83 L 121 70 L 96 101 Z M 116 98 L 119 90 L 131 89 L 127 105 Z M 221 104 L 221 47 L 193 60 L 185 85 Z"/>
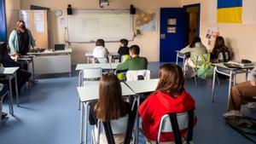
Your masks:
<path fill-rule="evenodd" d="M 133 17 L 129 10 L 73 9 L 68 15 L 68 38 L 72 43 L 106 42 L 133 39 Z"/>

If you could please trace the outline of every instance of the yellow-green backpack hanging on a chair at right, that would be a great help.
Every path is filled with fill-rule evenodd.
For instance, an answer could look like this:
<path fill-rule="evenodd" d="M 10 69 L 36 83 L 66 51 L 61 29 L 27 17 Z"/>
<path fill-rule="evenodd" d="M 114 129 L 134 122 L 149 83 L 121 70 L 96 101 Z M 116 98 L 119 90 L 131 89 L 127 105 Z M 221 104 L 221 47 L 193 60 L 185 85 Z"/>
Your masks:
<path fill-rule="evenodd" d="M 212 62 L 210 61 L 210 55 L 207 55 L 207 60 L 205 60 L 203 55 L 199 55 L 201 57 L 201 66 L 196 70 L 196 74 L 198 78 L 207 79 L 208 77 L 212 77 L 213 75 L 213 67 Z M 197 63 L 195 63 L 195 67 Z"/>

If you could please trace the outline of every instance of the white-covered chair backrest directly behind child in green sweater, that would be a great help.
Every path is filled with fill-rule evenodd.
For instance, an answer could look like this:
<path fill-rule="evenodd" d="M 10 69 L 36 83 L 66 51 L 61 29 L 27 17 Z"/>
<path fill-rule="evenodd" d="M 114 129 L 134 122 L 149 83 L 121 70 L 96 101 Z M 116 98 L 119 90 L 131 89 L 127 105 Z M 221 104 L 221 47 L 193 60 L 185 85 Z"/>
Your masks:
<path fill-rule="evenodd" d="M 137 81 L 140 80 L 139 76 L 143 76 L 143 79 L 150 79 L 150 70 L 139 70 L 139 71 L 127 71 L 126 72 L 126 81 Z"/>

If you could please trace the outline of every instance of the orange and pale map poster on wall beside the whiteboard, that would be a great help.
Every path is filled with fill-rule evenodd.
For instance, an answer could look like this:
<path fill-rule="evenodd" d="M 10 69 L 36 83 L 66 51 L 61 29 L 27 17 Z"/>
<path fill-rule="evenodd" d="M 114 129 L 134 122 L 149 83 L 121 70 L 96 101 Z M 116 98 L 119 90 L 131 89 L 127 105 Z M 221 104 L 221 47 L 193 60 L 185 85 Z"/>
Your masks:
<path fill-rule="evenodd" d="M 152 13 L 140 11 L 139 14 L 135 16 L 134 28 L 135 28 L 135 31 L 139 31 L 139 32 L 157 31 L 156 11 Z"/>

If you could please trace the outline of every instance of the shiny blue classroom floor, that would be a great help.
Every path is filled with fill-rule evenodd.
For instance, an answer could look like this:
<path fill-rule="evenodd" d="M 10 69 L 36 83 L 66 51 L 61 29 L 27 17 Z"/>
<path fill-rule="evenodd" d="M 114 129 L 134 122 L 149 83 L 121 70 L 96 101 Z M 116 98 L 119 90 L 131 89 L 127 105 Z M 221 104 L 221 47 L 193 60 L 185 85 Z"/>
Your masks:
<path fill-rule="evenodd" d="M 158 76 L 159 66 L 160 63 L 149 63 L 153 78 Z M 77 76 L 44 78 L 30 91 L 25 89 L 20 95 L 20 107 L 15 105 L 15 117 L 9 116 L 0 130 L 0 144 L 79 144 L 77 85 Z M 200 81 L 198 87 L 193 79 L 186 81 L 186 89 L 196 102 L 198 123 L 194 129 L 194 143 L 251 143 L 224 123 L 227 81 L 216 87 L 214 103 L 210 99 L 211 88 L 206 81 Z M 3 111 L 8 112 L 7 103 Z"/>

